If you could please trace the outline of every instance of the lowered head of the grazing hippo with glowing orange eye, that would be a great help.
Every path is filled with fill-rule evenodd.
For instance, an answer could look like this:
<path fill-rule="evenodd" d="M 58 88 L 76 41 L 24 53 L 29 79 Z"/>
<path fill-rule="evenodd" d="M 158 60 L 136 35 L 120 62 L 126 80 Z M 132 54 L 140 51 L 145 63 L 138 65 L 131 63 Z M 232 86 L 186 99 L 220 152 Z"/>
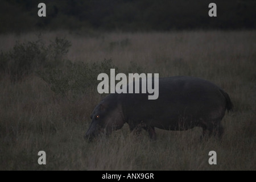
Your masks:
<path fill-rule="evenodd" d="M 113 130 L 121 129 L 125 123 L 121 108 L 117 103 L 113 103 L 113 100 L 111 102 L 101 101 L 94 108 L 90 118 L 92 122 L 84 135 L 85 139 L 92 139 L 102 133 L 109 135 Z"/>

